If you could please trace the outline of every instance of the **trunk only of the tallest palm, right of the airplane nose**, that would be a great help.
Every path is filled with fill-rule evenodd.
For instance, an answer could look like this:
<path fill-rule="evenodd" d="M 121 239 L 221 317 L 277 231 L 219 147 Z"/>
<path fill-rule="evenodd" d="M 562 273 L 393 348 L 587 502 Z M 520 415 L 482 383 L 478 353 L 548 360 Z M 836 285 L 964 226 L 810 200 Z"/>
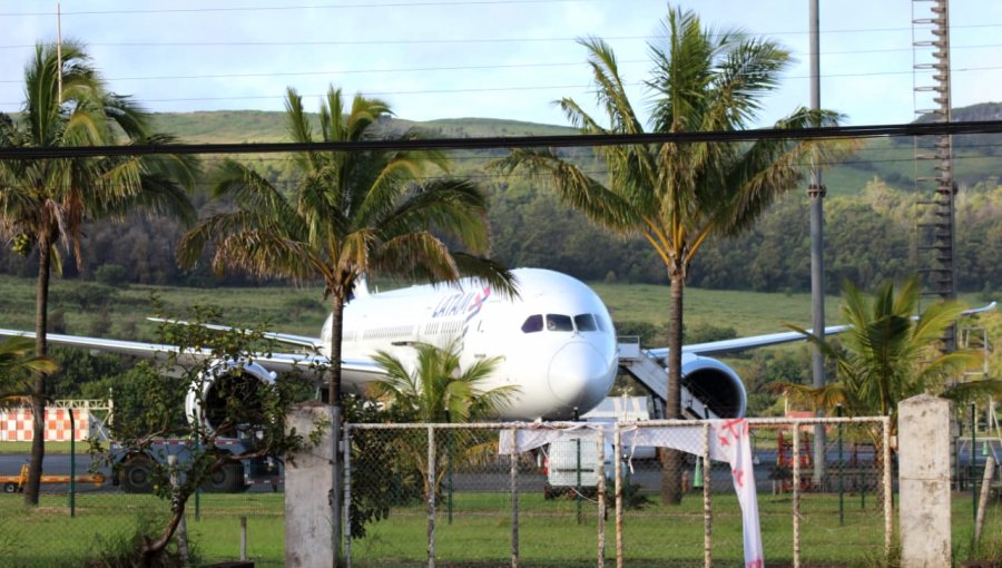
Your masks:
<path fill-rule="evenodd" d="M 682 343 L 682 293 L 685 277 L 680 271 L 669 270 L 671 278 L 671 313 L 668 317 L 668 396 L 665 401 L 665 418 L 681 418 L 681 343 Z M 682 452 L 666 449 L 661 454 L 661 502 L 681 502 L 681 474 L 685 462 Z"/>

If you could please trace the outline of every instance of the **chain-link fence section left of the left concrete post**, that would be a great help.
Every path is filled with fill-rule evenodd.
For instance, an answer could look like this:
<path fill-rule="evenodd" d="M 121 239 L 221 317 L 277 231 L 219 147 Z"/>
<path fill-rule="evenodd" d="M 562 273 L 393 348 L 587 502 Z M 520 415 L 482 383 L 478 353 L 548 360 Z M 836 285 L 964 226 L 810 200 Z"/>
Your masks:
<path fill-rule="evenodd" d="M 138 533 L 166 528 L 170 503 L 127 492 L 111 469 L 94 466 L 89 445 L 79 441 L 46 443 L 39 503 L 26 506 L 21 490 L 30 449 L 31 442 L 0 441 L 0 567 L 91 566 L 134 547 Z M 206 489 L 189 499 L 196 566 L 236 560 L 242 548 L 258 567 L 284 565 L 282 477 L 250 481 L 238 492 Z"/>

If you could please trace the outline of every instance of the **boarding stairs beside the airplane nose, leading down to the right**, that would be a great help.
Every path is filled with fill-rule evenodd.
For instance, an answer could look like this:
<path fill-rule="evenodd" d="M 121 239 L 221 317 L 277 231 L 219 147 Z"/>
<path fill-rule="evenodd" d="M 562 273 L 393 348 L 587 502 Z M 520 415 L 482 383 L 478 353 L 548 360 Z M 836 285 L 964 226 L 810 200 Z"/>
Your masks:
<path fill-rule="evenodd" d="M 629 373 L 650 393 L 655 403 L 655 415 L 664 418 L 665 403 L 668 400 L 668 370 L 662 358 L 655 356 L 649 351 L 640 347 L 640 337 L 629 335 L 619 337 L 619 368 Z M 681 386 L 681 413 L 682 417 L 694 420 L 709 420 L 719 418 L 709 405 L 705 393 L 682 384 Z"/>

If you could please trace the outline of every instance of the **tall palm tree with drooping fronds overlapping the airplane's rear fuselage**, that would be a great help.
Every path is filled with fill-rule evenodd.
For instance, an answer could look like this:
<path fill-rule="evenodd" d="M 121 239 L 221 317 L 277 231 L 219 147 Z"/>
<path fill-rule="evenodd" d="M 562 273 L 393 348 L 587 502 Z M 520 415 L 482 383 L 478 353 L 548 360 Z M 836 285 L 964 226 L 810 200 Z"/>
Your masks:
<path fill-rule="evenodd" d="M 285 109 L 293 141 L 372 139 L 380 121 L 391 116 L 385 102 L 362 96 L 345 111 L 341 90 L 333 87 L 324 102 L 317 138 L 302 98 L 288 89 Z M 332 312 L 327 385 L 332 405 L 342 404 L 344 306 L 364 274 L 454 282 L 468 273 L 500 290 L 513 290 L 505 270 L 451 253 L 432 232 L 454 237 L 474 253 L 488 247 L 485 199 L 478 188 L 469 180 L 424 178 L 430 168 L 444 170 L 441 153 L 304 150 L 292 156 L 292 164 L 299 175 L 285 192 L 248 166 L 225 161 L 214 193 L 233 199 L 235 209 L 205 218 L 188 232 L 178 245 L 178 259 L 191 266 L 214 242 L 212 262 L 217 272 L 235 266 L 263 277 L 323 280 Z"/>

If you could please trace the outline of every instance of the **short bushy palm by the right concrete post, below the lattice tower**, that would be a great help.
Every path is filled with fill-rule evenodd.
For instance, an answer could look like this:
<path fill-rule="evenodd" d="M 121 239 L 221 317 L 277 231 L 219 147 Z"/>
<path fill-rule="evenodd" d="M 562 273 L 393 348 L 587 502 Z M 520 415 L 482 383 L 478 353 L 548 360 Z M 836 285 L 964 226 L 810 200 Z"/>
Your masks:
<path fill-rule="evenodd" d="M 897 429 L 897 404 L 924 392 L 954 400 L 988 392 L 1002 393 L 1002 381 L 949 382 L 956 379 L 981 354 L 972 350 L 941 352 L 942 337 L 963 312 L 957 302 L 939 302 L 914 317 L 921 298 L 912 278 L 895 294 L 891 282 L 880 286 L 867 301 L 852 283 L 843 285 L 842 320 L 849 329 L 838 343 L 795 325 L 788 327 L 834 362 L 837 379 L 822 388 L 802 384 L 778 385 L 795 401 L 828 411 L 842 405 L 849 417 L 892 417 L 891 433 Z M 841 345 L 839 345 L 841 344 Z M 871 432 L 880 442 L 880 432 Z"/>

